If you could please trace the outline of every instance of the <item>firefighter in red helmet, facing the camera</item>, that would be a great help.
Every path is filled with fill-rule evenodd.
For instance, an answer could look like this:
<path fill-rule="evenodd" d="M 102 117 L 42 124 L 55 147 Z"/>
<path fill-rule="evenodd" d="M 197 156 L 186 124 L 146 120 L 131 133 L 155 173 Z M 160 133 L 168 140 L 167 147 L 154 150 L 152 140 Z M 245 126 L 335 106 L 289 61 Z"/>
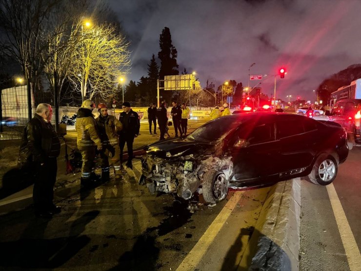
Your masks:
<path fill-rule="evenodd" d="M 100 115 L 95 121 L 102 145 L 100 151 L 101 179 L 103 182 L 106 182 L 109 181 L 109 154 L 116 179 L 121 177 L 118 133 L 123 126 L 116 117 L 108 114 L 108 106 L 106 104 L 98 104 L 98 111 Z"/>

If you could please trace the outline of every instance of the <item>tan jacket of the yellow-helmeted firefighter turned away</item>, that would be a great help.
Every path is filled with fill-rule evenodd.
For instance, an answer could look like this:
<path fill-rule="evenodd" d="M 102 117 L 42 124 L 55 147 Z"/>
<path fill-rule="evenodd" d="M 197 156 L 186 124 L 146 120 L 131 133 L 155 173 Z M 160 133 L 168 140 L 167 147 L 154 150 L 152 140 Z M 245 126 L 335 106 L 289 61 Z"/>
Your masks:
<path fill-rule="evenodd" d="M 75 130 L 77 131 L 77 145 L 80 150 L 95 145 L 101 147 L 94 115 L 90 109 L 79 108 Z"/>

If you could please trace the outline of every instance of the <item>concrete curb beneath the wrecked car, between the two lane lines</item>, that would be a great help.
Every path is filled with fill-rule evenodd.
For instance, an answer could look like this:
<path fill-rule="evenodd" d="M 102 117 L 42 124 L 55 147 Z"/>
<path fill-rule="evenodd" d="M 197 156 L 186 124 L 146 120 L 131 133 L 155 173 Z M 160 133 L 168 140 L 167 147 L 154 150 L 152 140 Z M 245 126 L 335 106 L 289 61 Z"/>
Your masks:
<path fill-rule="evenodd" d="M 261 209 L 239 270 L 299 270 L 301 179 L 274 185 Z"/>

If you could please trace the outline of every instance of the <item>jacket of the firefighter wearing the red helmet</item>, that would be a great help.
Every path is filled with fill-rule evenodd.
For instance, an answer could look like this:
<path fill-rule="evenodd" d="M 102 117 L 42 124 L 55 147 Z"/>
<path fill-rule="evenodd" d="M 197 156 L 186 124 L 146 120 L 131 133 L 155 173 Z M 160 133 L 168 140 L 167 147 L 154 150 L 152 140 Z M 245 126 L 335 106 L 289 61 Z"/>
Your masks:
<path fill-rule="evenodd" d="M 118 133 L 123 128 L 123 125 L 121 125 L 120 121 L 112 115 L 107 115 L 106 117 L 99 115 L 99 117 L 95 119 L 95 122 L 97 124 L 97 130 L 101 144 L 103 146 L 118 145 Z"/>

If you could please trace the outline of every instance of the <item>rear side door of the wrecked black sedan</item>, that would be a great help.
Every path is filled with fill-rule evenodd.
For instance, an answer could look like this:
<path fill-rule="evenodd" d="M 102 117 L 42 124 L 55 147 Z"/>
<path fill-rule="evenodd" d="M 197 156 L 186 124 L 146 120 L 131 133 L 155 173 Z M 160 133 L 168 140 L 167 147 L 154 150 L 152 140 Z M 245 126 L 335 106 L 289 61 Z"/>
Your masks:
<path fill-rule="evenodd" d="M 280 140 L 280 171 L 299 172 L 311 165 L 317 137 L 316 121 L 297 115 L 278 116 L 276 139 Z M 297 171 L 295 171 L 297 170 Z"/>

